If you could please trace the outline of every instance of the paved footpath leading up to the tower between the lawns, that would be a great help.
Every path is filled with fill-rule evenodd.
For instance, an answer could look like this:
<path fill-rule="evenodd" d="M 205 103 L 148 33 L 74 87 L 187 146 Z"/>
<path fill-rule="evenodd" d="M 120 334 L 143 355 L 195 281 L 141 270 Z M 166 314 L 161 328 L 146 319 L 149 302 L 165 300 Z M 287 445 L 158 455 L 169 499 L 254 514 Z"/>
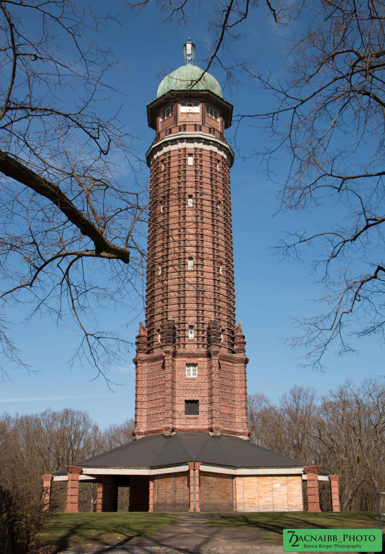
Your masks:
<path fill-rule="evenodd" d="M 246 531 L 239 527 L 206 524 L 207 520 L 218 515 L 179 514 L 174 523 L 152 537 L 133 538 L 96 548 L 71 547 L 61 554 L 283 554 L 282 541 L 259 538 L 262 529 Z"/>

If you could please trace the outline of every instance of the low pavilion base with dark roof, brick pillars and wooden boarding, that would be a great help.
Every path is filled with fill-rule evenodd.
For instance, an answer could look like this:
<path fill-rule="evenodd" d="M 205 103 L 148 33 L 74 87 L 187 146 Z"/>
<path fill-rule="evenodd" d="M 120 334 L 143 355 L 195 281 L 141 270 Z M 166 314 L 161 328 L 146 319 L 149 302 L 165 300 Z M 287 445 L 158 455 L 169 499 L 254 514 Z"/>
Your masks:
<path fill-rule="evenodd" d="M 239 437 L 193 432 L 143 437 L 56 471 L 53 480 L 70 489 L 70 511 L 76 511 L 74 471 L 80 484 L 97 485 L 96 511 L 117 511 L 119 486 L 129 486 L 129 511 L 302 511 L 309 475 L 314 511 L 315 481 L 329 481 L 313 466 Z M 337 502 L 332 509 L 339 510 Z"/>

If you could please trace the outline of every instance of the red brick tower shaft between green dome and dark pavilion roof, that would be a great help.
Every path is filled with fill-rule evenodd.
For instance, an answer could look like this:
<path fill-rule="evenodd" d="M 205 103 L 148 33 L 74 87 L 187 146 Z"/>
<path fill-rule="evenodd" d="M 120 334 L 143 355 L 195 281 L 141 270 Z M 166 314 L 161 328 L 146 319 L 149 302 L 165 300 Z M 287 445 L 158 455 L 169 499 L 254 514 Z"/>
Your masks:
<path fill-rule="evenodd" d="M 231 105 L 170 91 L 149 105 L 150 209 L 145 326 L 137 336 L 137 437 L 248 436 L 244 336 L 235 325 Z"/>

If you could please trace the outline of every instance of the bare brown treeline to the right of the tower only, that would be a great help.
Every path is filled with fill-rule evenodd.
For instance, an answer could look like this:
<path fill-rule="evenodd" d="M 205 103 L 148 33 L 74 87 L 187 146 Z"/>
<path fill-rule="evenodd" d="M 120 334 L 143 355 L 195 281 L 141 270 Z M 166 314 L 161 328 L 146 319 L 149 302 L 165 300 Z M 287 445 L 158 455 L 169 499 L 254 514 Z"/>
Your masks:
<path fill-rule="evenodd" d="M 248 416 L 253 442 L 340 475 L 342 511 L 374 509 L 373 491 L 385 491 L 383 379 L 348 381 L 321 397 L 294 387 L 277 404 L 251 394 Z"/>

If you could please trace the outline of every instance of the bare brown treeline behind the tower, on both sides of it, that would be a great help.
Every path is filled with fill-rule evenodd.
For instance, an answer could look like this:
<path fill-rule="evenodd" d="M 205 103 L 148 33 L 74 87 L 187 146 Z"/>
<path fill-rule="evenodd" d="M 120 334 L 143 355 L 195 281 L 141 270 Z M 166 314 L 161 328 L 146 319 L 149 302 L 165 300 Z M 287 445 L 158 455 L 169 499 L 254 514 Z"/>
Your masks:
<path fill-rule="evenodd" d="M 294 387 L 273 404 L 262 393 L 248 398 L 252 440 L 263 447 L 340 475 L 341 508 L 373 510 L 373 491 L 385 491 L 385 381 L 347 382 L 319 397 Z M 41 475 L 132 440 L 133 420 L 101 431 L 87 412 L 50 409 L 39 414 L 0 416 L 0 486 L 40 506 Z M 322 483 L 322 481 L 320 481 Z M 63 511 L 66 482 L 53 481 L 51 509 Z M 28 497 L 28 498 L 27 498 Z M 23 500 L 25 499 L 25 501 Z M 92 484 L 80 487 L 79 509 L 95 509 Z M 128 490 L 119 489 L 118 509 L 128 509 Z"/>

